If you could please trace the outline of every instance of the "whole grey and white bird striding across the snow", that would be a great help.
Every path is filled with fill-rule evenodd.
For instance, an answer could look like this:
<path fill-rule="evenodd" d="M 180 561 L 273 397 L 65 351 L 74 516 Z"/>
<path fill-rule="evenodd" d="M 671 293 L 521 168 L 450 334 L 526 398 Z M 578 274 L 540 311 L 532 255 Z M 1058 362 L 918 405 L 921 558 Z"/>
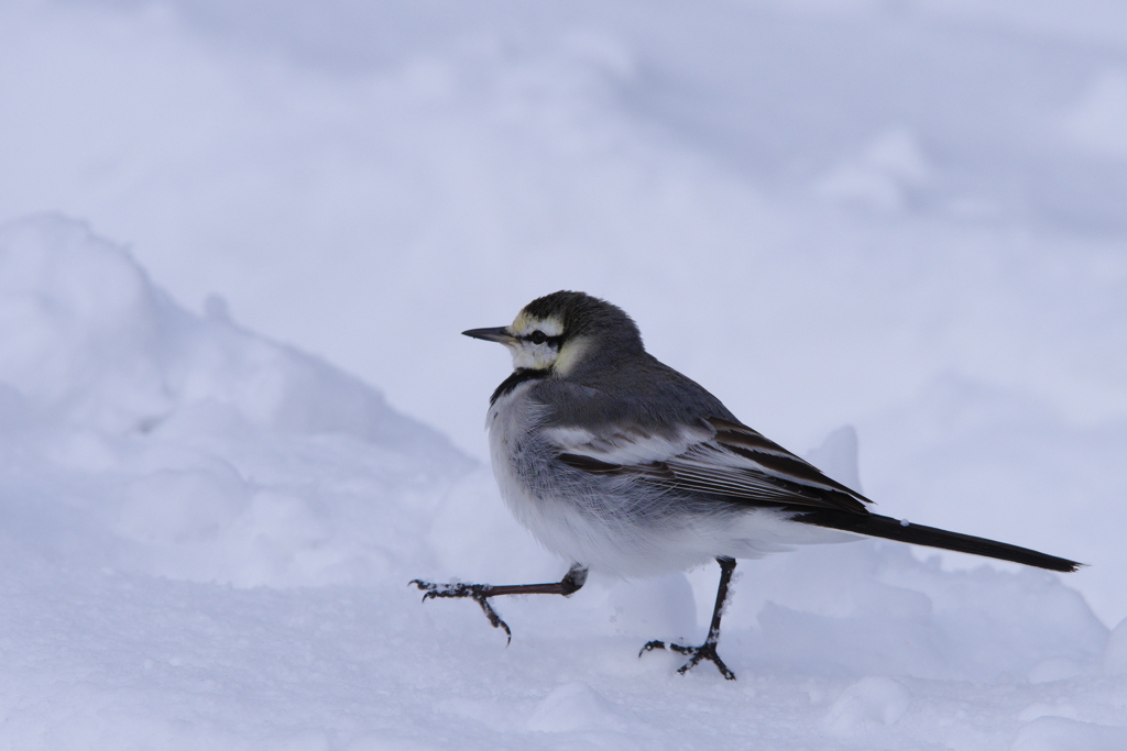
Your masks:
<path fill-rule="evenodd" d="M 716 396 L 659 363 L 621 309 L 578 292 L 529 303 L 507 327 L 467 337 L 497 341 L 514 370 L 489 399 L 494 474 L 517 520 L 571 562 L 547 584 L 435 584 L 468 597 L 494 627 L 499 594 L 574 593 L 594 569 L 623 578 L 720 564 L 712 624 L 701 646 L 671 644 L 734 679 L 717 654 L 736 558 L 757 558 L 842 531 L 973 553 L 1053 571 L 1081 564 L 982 537 L 871 513 L 861 493 L 743 424 Z M 836 530 L 836 531 L 832 531 Z M 665 649 L 649 642 L 640 654 Z"/>

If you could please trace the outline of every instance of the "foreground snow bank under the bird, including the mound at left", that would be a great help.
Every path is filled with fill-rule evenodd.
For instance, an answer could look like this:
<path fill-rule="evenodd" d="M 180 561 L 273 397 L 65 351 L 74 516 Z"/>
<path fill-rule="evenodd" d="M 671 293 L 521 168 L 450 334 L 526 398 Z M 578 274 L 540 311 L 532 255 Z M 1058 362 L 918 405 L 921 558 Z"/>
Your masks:
<path fill-rule="evenodd" d="M 2 748 L 1124 737 L 1122 626 L 1109 640 L 1059 576 L 944 571 L 903 546 L 740 565 L 734 687 L 637 658 L 649 638 L 700 637 L 709 570 L 498 602 L 506 649 L 472 604 L 406 588 L 561 573 L 488 471 L 208 307 L 178 306 L 83 223 L 0 229 Z M 842 436 L 818 461 L 846 476 Z"/>

